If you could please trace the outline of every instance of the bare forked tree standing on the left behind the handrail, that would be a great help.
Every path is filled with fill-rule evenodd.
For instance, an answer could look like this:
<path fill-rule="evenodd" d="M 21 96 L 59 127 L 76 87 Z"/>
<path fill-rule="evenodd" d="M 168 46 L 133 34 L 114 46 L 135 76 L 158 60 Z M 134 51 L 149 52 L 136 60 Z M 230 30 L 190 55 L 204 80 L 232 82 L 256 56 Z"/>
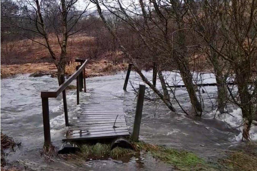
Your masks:
<path fill-rule="evenodd" d="M 10 16 L 5 14 L 2 16 L 10 19 L 10 21 L 8 26 L 1 26 L 1 28 L 9 28 L 13 33 L 21 34 L 48 49 L 52 61 L 58 70 L 57 76 L 59 83 L 61 83 L 60 75 L 65 72 L 68 37 L 87 27 L 77 26 L 80 25 L 81 18 L 88 16 L 86 12 L 89 3 L 81 11 L 76 9 L 77 2 L 78 0 L 18 1 L 17 4 L 20 8 L 19 15 Z M 26 32 L 31 32 L 34 36 L 44 39 L 44 43 L 36 41 L 30 35 L 26 34 Z M 57 55 L 51 46 L 49 40 L 50 32 L 55 33 L 60 46 L 60 55 Z"/>

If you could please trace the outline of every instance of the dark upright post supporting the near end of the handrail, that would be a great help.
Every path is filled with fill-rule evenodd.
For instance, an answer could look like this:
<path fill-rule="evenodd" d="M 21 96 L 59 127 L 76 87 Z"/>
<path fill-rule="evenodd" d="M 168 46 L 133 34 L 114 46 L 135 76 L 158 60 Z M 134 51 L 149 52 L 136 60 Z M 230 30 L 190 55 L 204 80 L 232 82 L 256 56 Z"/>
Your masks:
<path fill-rule="evenodd" d="M 43 111 L 45 147 L 48 149 L 48 147 L 51 145 L 48 98 L 42 97 L 42 111 Z"/>

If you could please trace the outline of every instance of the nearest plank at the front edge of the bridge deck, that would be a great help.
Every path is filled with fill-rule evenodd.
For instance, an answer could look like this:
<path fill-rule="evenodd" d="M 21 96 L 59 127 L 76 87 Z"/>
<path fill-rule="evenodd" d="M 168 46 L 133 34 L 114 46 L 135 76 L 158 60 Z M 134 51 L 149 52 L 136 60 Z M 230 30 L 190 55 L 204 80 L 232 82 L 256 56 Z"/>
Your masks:
<path fill-rule="evenodd" d="M 63 140 L 86 140 L 86 139 L 100 139 L 100 138 L 115 138 L 115 137 L 127 137 L 129 136 L 129 132 L 118 132 L 118 133 L 110 133 L 110 134 L 97 134 L 97 135 L 86 135 L 79 137 L 70 137 L 65 138 Z"/>

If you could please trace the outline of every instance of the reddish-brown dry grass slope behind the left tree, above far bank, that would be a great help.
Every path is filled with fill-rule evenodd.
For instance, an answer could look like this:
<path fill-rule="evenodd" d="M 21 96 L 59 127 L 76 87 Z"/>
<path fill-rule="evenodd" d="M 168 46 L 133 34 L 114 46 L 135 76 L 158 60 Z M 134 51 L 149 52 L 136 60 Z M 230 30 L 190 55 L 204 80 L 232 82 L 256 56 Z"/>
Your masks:
<path fill-rule="evenodd" d="M 45 44 L 45 40 L 41 38 L 34 39 L 37 42 Z M 67 56 L 68 60 L 75 57 L 85 57 L 92 48 L 95 38 L 88 37 L 87 34 L 72 35 L 68 39 Z M 37 42 L 29 39 L 19 41 L 10 41 L 1 43 L 1 60 L 5 64 L 24 64 L 24 63 L 39 63 L 51 62 L 51 56 L 48 49 Z M 49 42 L 52 50 L 57 56 L 61 53 L 60 45 L 57 37 L 54 34 L 49 35 Z"/>

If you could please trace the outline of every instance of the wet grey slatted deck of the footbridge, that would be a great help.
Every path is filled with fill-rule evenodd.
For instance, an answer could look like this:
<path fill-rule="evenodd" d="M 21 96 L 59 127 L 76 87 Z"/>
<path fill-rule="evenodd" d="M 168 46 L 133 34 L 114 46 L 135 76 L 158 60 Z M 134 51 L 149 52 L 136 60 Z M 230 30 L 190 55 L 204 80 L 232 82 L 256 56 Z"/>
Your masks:
<path fill-rule="evenodd" d="M 81 113 L 73 116 L 74 126 L 69 127 L 63 140 L 129 136 L 123 100 L 112 96 L 111 92 L 90 93 L 86 104 L 81 103 Z"/>

